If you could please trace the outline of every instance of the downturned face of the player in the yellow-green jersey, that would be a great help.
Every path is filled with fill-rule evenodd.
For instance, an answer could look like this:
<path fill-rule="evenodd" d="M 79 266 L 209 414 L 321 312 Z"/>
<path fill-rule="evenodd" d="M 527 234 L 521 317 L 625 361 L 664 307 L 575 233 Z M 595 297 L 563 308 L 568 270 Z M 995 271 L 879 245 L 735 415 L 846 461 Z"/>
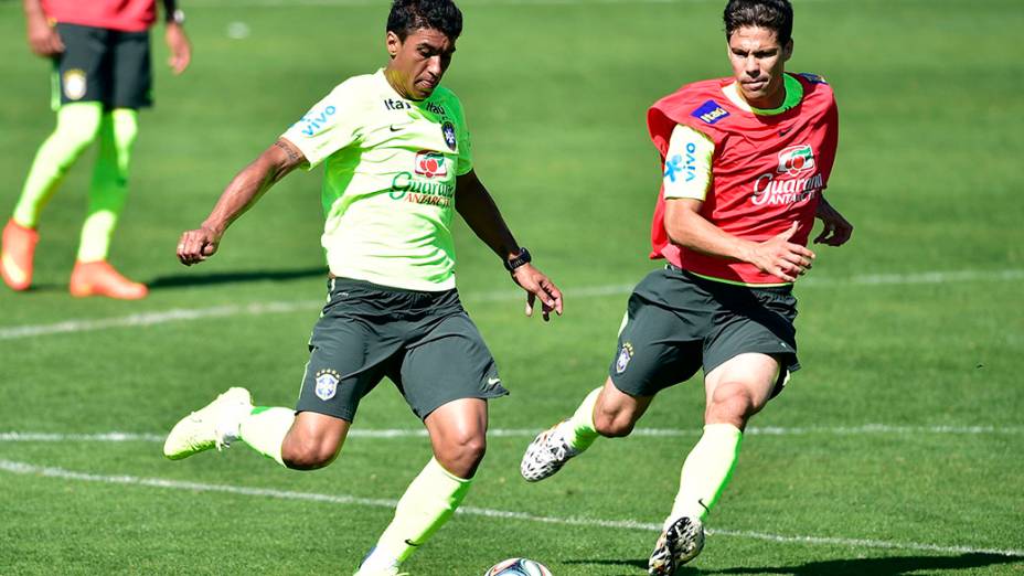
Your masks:
<path fill-rule="evenodd" d="M 439 30 L 420 28 L 402 41 L 387 33 L 387 79 L 402 96 L 423 100 L 434 93 L 451 64 L 455 42 Z"/>

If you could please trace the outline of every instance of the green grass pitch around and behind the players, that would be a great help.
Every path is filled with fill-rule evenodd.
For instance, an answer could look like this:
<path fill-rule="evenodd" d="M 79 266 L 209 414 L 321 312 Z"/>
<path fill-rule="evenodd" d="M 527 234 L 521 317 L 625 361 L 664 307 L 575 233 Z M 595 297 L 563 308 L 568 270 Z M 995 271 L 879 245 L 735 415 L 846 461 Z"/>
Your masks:
<path fill-rule="evenodd" d="M 728 74 L 721 0 L 466 0 L 446 83 L 477 172 L 566 312 L 522 316 L 465 225 L 459 285 L 508 398 L 463 513 L 414 575 L 510 556 L 556 576 L 643 574 L 697 438 L 697 382 L 642 434 L 527 484 L 532 435 L 605 376 L 658 186 L 646 108 Z M 684 574 L 1024 574 L 1024 29 L 1020 0 L 796 0 L 790 70 L 840 103 L 829 196 L 856 226 L 798 285 L 804 370 L 755 420 L 708 544 Z M 193 67 L 142 116 L 115 264 L 140 302 L 66 291 L 92 153 L 44 214 L 38 287 L 0 290 L 0 574 L 351 574 L 429 458 L 390 385 L 330 468 L 244 447 L 164 460 L 162 435 L 231 385 L 290 406 L 323 297 L 320 175 L 295 174 L 201 267 L 174 259 L 235 171 L 342 78 L 384 64 L 382 1 L 182 0 Z M 234 22 L 248 36 L 228 38 Z M 238 29 L 237 24 L 234 29 Z M 0 213 L 53 126 L 47 64 L 0 2 Z M 66 322 L 66 323 L 65 323 Z M 64 323 L 64 324 L 62 324 Z M 392 435 L 373 431 L 397 430 Z M 124 433 L 113 441 L 110 433 Z"/>

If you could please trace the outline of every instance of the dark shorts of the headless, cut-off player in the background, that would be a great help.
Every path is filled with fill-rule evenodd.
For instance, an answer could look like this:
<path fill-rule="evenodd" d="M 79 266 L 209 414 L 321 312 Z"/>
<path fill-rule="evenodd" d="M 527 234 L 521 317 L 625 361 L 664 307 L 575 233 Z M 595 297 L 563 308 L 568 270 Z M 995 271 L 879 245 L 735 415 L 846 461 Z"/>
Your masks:
<path fill-rule="evenodd" d="M 100 102 L 104 108 L 152 105 L 149 32 L 57 23 L 64 52 L 54 58 L 53 107 Z"/>

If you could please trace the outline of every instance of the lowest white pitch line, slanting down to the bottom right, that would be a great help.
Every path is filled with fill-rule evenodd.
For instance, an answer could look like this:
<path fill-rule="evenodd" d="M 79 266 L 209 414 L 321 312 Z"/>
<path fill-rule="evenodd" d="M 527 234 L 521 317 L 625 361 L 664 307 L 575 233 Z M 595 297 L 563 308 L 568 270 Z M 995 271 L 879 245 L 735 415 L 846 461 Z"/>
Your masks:
<path fill-rule="evenodd" d="M 17 474 L 33 474 L 61 480 L 72 480 L 82 482 L 97 482 L 105 484 L 139 486 L 148 488 L 163 488 L 171 490 L 189 490 L 192 492 L 221 492 L 237 495 L 248 495 L 255 498 L 275 498 L 281 500 L 303 500 L 311 502 L 323 502 L 341 505 L 362 505 L 373 508 L 393 509 L 396 500 L 360 498 L 350 494 L 321 494 L 316 492 L 296 492 L 289 490 L 275 490 L 267 488 L 249 488 L 232 484 L 207 484 L 203 482 L 186 482 L 182 480 L 169 480 L 164 478 L 139 478 L 128 474 L 103 476 L 87 472 L 76 472 L 63 468 L 36 466 L 26 462 L 0 459 L 0 470 Z M 484 516 L 501 520 L 519 520 L 523 522 L 535 522 L 543 524 L 559 524 L 572 526 L 620 529 L 620 530 L 643 530 L 649 532 L 661 531 L 661 525 L 640 522 L 636 520 L 600 520 L 587 518 L 559 518 L 559 516 L 541 516 L 525 512 L 512 512 L 506 510 L 494 510 L 476 506 L 461 506 L 456 511 L 457 514 Z M 732 530 L 708 530 L 707 533 L 713 536 L 733 536 L 750 540 L 762 540 L 777 542 L 781 544 L 813 544 L 843 546 L 855 548 L 883 548 L 883 550 L 905 550 L 918 552 L 937 552 L 937 553 L 959 553 L 959 554 L 995 554 L 1000 556 L 1024 557 L 1024 551 L 1007 548 L 974 548 L 969 546 L 943 546 L 939 544 L 919 543 L 919 542 L 893 542 L 884 540 L 863 540 L 863 538 L 841 538 L 832 536 L 787 536 L 781 534 L 770 534 L 765 532 L 750 531 L 732 531 Z"/>

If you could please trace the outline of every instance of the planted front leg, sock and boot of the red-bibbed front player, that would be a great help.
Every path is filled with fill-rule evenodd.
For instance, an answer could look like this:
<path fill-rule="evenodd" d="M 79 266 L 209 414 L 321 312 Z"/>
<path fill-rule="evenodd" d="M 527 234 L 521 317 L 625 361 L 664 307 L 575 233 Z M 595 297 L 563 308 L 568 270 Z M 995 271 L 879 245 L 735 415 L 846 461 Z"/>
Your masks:
<path fill-rule="evenodd" d="M 780 364 L 767 354 L 739 354 L 704 377 L 704 434 L 680 473 L 680 489 L 649 562 L 652 575 L 674 574 L 704 547 L 704 520 L 728 484 L 743 429 L 771 397 Z"/>

